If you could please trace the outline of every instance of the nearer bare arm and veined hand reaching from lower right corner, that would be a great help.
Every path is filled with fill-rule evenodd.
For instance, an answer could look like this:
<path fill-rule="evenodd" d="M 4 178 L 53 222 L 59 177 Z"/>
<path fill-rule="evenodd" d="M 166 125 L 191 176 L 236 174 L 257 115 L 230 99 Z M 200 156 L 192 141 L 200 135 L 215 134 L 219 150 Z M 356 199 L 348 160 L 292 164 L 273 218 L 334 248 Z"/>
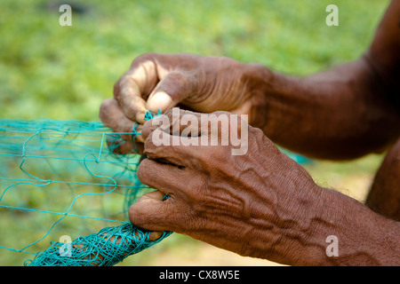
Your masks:
<path fill-rule="evenodd" d="M 180 111 L 181 117 L 185 114 Z M 191 115 L 200 120 L 200 114 Z M 165 116 L 173 123 L 171 111 Z M 148 159 L 140 163 L 138 177 L 159 191 L 144 194 L 132 205 L 134 225 L 188 234 L 243 256 L 282 264 L 400 264 L 399 223 L 316 185 L 260 129 L 248 127 L 248 152 L 234 156 L 231 145 L 202 146 L 198 140 L 203 130 L 191 138 L 197 140 L 194 145 L 155 144 L 158 134 L 152 123 L 143 127 Z M 233 125 L 229 123 L 230 130 L 237 128 Z M 180 134 L 165 135 L 172 141 Z M 170 196 L 166 201 L 164 194 Z M 326 254 L 329 236 L 337 238 L 337 256 Z"/>

